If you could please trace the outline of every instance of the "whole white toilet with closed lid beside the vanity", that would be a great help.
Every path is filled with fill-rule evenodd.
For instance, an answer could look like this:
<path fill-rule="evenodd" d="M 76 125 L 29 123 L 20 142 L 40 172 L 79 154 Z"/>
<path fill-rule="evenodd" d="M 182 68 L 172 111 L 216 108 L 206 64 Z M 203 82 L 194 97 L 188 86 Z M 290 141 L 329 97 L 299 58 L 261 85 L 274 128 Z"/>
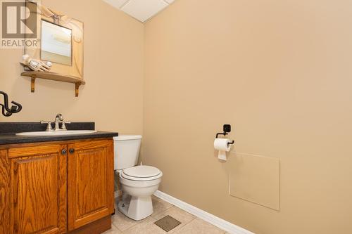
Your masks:
<path fill-rule="evenodd" d="M 118 210 L 130 219 L 139 221 L 153 214 L 153 195 L 161 183 L 163 173 L 156 167 L 137 166 L 142 136 L 114 137 L 115 171 L 118 171 L 122 200 Z"/>

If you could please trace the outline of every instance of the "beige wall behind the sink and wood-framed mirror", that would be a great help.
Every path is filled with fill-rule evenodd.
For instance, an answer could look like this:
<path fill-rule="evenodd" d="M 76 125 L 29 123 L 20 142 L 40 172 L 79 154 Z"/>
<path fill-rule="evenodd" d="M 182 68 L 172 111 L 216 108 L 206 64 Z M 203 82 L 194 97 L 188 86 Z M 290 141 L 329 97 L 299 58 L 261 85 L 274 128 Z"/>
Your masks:
<path fill-rule="evenodd" d="M 101 0 L 43 0 L 44 5 L 84 22 L 84 79 L 80 96 L 73 84 L 20 77 L 23 50 L 0 49 L 0 90 L 23 111 L 0 122 L 95 121 L 96 129 L 142 134 L 144 26 Z"/>

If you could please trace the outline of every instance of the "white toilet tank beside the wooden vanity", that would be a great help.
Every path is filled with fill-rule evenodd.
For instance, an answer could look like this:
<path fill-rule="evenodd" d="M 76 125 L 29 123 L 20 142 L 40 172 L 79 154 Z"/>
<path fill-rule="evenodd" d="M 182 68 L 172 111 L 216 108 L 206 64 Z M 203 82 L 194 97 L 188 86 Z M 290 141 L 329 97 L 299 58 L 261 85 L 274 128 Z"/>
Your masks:
<path fill-rule="evenodd" d="M 138 163 L 142 136 L 121 135 L 115 136 L 113 140 L 115 153 L 114 169 L 120 170 L 136 166 Z"/>

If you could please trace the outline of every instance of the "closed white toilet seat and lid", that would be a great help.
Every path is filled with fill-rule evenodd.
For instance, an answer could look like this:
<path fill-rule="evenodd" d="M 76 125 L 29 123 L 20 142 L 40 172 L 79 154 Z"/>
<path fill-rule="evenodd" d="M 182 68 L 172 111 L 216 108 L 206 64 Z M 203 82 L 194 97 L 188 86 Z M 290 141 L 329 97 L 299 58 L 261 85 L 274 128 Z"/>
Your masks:
<path fill-rule="evenodd" d="M 156 167 L 137 166 L 123 169 L 122 178 L 131 181 L 153 181 L 163 176 L 163 173 Z"/>

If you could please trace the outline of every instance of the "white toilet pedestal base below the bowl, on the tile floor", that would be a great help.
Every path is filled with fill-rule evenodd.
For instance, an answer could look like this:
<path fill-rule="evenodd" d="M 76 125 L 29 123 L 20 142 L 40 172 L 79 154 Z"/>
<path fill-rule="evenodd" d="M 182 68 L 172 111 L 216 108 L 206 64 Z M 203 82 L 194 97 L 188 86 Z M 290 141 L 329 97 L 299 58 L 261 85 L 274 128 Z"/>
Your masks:
<path fill-rule="evenodd" d="M 125 216 L 135 221 L 145 219 L 146 217 L 153 214 L 153 204 L 151 202 L 151 196 L 149 197 L 133 197 L 124 196 L 122 200 L 118 202 L 118 210 L 125 214 Z"/>

